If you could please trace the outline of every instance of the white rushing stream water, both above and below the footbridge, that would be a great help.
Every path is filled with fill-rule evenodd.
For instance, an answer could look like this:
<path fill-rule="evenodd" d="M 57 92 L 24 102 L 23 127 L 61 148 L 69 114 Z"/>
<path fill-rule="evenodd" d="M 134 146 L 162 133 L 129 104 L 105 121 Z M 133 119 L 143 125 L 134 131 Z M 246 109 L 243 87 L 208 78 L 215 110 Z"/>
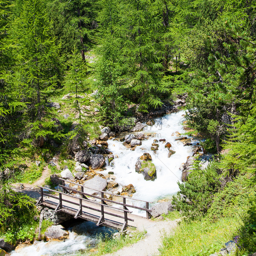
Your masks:
<path fill-rule="evenodd" d="M 182 163 L 186 162 L 187 157 L 192 154 L 192 146 L 183 146 L 180 141 L 175 141 L 179 135 L 173 133 L 179 132 L 181 135 L 185 133 L 182 127 L 182 115 L 184 111 L 178 113 L 172 113 L 161 118 L 156 118 L 154 126 L 144 127 L 143 132 L 145 134 L 154 134 L 154 137 L 150 137 L 148 140 L 143 140 L 141 146 L 137 146 L 134 151 L 125 147 L 122 142 L 108 140 L 109 150 L 114 155 L 118 155 L 115 158 L 114 167 L 107 166 L 107 170 L 103 174 L 107 174 L 109 171 L 113 171 L 116 177 L 115 182 L 119 185 L 132 184 L 136 193 L 132 198 L 137 198 L 149 202 L 157 202 L 159 199 L 171 198 L 175 194 L 179 187 L 177 182 L 181 178 L 181 170 L 179 167 Z M 172 136 L 173 135 L 173 136 Z M 188 138 L 191 138 L 187 136 Z M 166 139 L 164 143 L 159 143 L 159 150 L 151 151 L 151 144 L 154 139 Z M 172 150 L 176 151 L 175 154 L 168 158 L 168 148 L 165 148 L 166 142 L 171 143 Z M 192 141 L 195 145 L 198 141 L 195 139 Z M 143 174 L 135 172 L 135 163 L 143 153 L 148 152 L 152 156 L 152 163 L 156 166 L 157 178 L 154 181 L 146 181 Z M 130 201 L 130 202 L 128 202 Z M 134 200 L 127 200 L 127 203 L 135 203 Z M 143 203 L 137 202 L 137 204 L 143 206 Z M 136 212 L 135 209 L 130 209 L 133 213 L 145 215 L 145 212 Z M 85 221 L 80 224 L 83 233 L 76 235 L 74 232 L 70 232 L 70 238 L 65 241 L 49 241 L 40 242 L 35 245 L 27 246 L 18 252 L 11 253 L 12 256 L 60 256 L 60 255 L 76 255 L 75 252 L 79 250 L 87 250 L 90 247 L 94 247 L 97 240 L 97 235 L 104 234 L 106 232 L 111 233 L 105 227 L 96 227 L 95 224 Z M 113 230 L 112 230 L 113 232 Z"/>

